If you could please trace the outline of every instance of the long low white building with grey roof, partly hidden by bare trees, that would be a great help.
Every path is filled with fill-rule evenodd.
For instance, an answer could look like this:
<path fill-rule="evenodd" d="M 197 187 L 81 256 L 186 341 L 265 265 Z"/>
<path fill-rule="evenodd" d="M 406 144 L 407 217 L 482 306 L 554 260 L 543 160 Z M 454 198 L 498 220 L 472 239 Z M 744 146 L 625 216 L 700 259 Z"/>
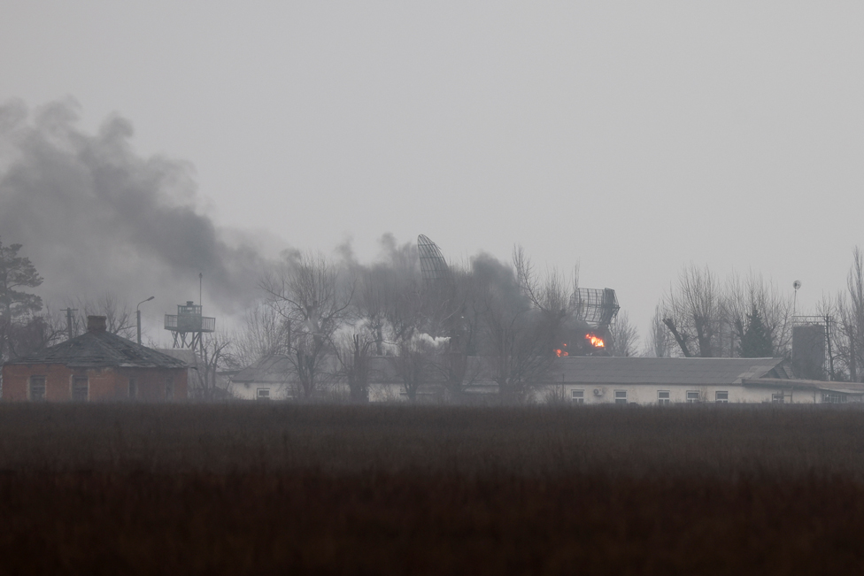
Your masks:
<path fill-rule="evenodd" d="M 407 395 L 393 367 L 393 357 L 370 360 L 369 400 L 394 402 Z M 338 377 L 338 366 L 322 378 L 322 399 L 347 396 Z M 472 385 L 469 394 L 496 395 L 498 384 L 490 378 L 488 359 L 468 358 Z M 286 358 L 267 358 L 237 373 L 230 386 L 243 399 L 291 400 L 297 397 L 297 381 Z M 419 399 L 441 398 L 434 371 L 418 394 Z M 330 376 L 327 378 L 326 376 Z M 534 388 L 538 403 L 566 401 L 584 404 L 673 403 L 860 403 L 864 384 L 796 380 L 782 358 L 557 358 Z"/>

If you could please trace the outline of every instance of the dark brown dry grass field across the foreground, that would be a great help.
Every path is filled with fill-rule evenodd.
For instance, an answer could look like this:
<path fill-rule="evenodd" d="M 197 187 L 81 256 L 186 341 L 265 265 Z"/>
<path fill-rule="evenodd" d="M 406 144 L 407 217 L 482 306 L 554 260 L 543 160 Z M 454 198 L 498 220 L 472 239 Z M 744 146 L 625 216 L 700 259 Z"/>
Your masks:
<path fill-rule="evenodd" d="M 0 406 L 0 568 L 864 572 L 864 411 Z"/>

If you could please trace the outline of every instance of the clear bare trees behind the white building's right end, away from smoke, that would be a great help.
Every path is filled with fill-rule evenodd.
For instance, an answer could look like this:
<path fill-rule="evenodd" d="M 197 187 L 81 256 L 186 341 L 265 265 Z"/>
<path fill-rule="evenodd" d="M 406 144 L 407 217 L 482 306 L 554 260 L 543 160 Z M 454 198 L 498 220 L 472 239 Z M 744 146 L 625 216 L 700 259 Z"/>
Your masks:
<path fill-rule="evenodd" d="M 864 252 L 852 250 L 846 286 L 814 311 L 760 273 L 721 280 L 686 265 L 660 298 L 645 340 L 655 357 L 783 357 L 791 360 L 796 324 L 821 326 L 828 357 L 820 379 L 864 381 Z M 814 377 L 810 375 L 808 377 Z"/>

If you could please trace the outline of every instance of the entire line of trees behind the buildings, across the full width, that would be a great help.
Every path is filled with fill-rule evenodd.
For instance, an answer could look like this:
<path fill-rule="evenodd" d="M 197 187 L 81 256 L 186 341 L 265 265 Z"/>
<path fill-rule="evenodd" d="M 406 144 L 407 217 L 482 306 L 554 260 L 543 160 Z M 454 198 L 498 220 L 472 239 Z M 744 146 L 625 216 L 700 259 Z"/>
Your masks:
<path fill-rule="evenodd" d="M 562 343 L 578 346 L 574 335 L 590 329 L 574 297 L 578 266 L 567 274 L 538 273 L 517 247 L 509 262 L 481 254 L 429 281 L 412 244 L 390 242 L 385 249 L 373 265 L 284 253 L 261 274 L 261 297 L 241 326 L 206 339 L 197 394 L 219 396 L 221 370 L 278 357 L 290 366 L 298 396 L 312 398 L 338 380 L 362 401 L 374 380 L 371 358 L 384 357 L 410 399 L 429 384 L 458 399 L 482 377 L 518 400 L 543 382 Z M 31 292 L 42 277 L 21 250 L 0 243 L 4 361 L 77 334 L 89 314 L 106 316 L 109 331 L 134 339 L 134 312 L 110 293 L 70 303 L 74 314 L 44 305 Z M 758 273 L 721 280 L 707 266 L 686 265 L 660 298 L 642 355 L 791 358 L 793 306 L 788 291 Z M 824 377 L 864 380 L 861 250 L 853 251 L 846 288 L 824 298 L 816 312 L 825 319 L 831 350 Z M 626 312 L 603 336 L 607 353 L 636 355 L 636 328 Z"/>

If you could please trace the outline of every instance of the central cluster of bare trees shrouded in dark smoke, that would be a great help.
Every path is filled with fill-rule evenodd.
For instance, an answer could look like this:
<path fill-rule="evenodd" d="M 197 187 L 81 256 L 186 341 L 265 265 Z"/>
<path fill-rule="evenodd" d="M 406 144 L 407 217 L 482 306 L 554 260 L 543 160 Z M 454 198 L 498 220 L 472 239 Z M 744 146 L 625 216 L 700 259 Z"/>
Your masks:
<path fill-rule="evenodd" d="M 287 359 L 304 398 L 336 379 L 352 400 L 365 400 L 370 360 L 383 357 L 409 400 L 428 385 L 458 400 L 481 377 L 521 400 L 584 324 L 573 297 L 577 269 L 538 274 L 521 249 L 511 263 L 481 255 L 435 280 L 422 278 L 411 245 L 370 266 L 295 252 L 259 287 L 264 297 L 235 352 L 246 362 Z"/>

